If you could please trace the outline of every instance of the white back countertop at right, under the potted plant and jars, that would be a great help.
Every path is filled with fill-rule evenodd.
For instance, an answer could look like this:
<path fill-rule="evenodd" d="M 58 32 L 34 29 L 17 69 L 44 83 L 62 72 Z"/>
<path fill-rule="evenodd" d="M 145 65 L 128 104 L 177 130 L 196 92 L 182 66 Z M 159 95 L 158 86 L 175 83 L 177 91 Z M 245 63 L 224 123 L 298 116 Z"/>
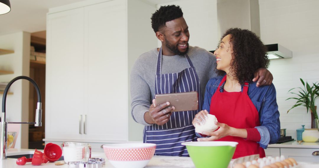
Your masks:
<path fill-rule="evenodd" d="M 319 150 L 319 142 L 297 142 L 296 140 L 280 143 L 270 144 L 268 148 L 317 148 Z"/>

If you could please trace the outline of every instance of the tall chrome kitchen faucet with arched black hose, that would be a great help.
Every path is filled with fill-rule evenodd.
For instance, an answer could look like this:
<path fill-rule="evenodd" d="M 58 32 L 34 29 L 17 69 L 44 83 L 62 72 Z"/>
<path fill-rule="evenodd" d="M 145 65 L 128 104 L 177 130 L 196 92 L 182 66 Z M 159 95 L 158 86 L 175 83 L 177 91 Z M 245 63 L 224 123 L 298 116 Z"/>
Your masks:
<path fill-rule="evenodd" d="M 13 82 L 19 80 L 19 79 L 25 79 L 30 81 L 33 86 L 35 87 L 35 90 L 37 91 L 37 95 L 38 95 L 38 103 L 37 103 L 37 109 L 35 110 L 35 122 L 6 122 L 5 119 L 5 101 L 7 98 L 7 93 L 9 91 L 10 86 L 12 85 Z M 42 118 L 42 109 L 41 109 L 41 93 L 40 93 L 40 89 L 39 86 L 37 85 L 37 83 L 35 83 L 35 81 L 33 81 L 33 79 L 31 79 L 30 77 L 27 76 L 18 76 L 14 79 L 12 79 L 8 85 L 6 86 L 6 88 L 4 89 L 4 93 L 3 93 L 3 97 L 2 97 L 2 117 L 1 117 L 1 128 L 0 128 L 0 160 L 4 160 L 7 158 L 7 124 L 34 124 L 34 126 L 36 127 L 41 127 L 42 126 L 42 122 L 41 122 L 41 118 Z"/>

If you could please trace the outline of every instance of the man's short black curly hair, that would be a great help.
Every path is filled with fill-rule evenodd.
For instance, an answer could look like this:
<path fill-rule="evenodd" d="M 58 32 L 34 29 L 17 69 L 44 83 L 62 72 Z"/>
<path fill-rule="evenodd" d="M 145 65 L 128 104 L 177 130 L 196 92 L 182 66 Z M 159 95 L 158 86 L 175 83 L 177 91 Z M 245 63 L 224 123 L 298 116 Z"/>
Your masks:
<path fill-rule="evenodd" d="M 152 14 L 152 28 L 158 32 L 160 28 L 166 26 L 166 22 L 183 17 L 182 9 L 176 5 L 161 6 Z"/>

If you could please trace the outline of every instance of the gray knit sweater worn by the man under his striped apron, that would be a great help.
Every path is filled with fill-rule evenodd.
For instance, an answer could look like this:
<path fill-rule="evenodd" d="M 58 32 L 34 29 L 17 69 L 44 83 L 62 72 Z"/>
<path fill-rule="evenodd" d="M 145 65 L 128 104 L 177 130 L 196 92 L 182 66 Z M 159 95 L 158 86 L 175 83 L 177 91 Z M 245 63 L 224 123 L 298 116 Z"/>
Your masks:
<path fill-rule="evenodd" d="M 155 96 L 155 77 L 158 56 L 157 48 L 143 53 L 135 62 L 131 71 L 131 114 L 133 119 L 145 126 L 144 114 Z M 204 100 L 205 87 L 209 79 L 216 77 L 216 57 L 203 48 L 189 46 L 188 56 L 192 61 L 200 81 Z M 162 56 L 161 74 L 177 73 L 189 68 L 184 56 Z"/>

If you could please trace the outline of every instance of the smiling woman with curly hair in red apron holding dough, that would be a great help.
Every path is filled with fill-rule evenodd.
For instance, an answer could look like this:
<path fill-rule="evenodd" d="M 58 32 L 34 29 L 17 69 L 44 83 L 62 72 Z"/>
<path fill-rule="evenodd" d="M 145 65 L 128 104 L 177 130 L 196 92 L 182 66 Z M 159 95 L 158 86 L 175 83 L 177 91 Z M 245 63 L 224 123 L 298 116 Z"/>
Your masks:
<path fill-rule="evenodd" d="M 206 85 L 203 109 L 193 125 L 203 124 L 207 114 L 215 115 L 219 129 L 199 132 L 198 141 L 235 141 L 233 158 L 259 154 L 265 157 L 268 144 L 280 137 L 276 90 L 273 84 L 256 87 L 253 74 L 267 68 L 269 60 L 261 40 L 248 30 L 229 29 L 214 55 L 220 76 Z M 203 137 L 204 136 L 204 137 Z"/>

